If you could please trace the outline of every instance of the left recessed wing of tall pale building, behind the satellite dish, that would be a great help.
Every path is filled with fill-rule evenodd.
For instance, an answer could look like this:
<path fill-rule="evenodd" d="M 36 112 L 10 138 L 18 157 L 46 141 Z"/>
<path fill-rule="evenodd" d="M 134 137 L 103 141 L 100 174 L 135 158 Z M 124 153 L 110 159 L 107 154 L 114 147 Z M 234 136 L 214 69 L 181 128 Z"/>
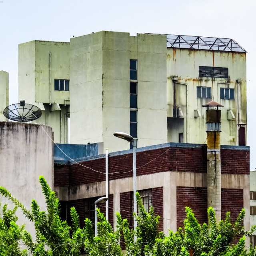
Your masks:
<path fill-rule="evenodd" d="M 19 44 L 19 99 L 42 110 L 40 124 L 49 125 L 57 143 L 68 143 L 69 90 L 55 90 L 55 80 L 70 80 L 70 47 L 66 42 L 34 40 Z"/>

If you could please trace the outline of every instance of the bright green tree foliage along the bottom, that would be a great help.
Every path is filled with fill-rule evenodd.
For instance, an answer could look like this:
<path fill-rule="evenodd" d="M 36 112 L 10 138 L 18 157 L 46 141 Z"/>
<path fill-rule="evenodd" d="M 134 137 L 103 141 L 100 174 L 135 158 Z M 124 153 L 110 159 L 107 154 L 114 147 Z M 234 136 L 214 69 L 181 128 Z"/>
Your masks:
<path fill-rule="evenodd" d="M 177 232 L 169 232 L 165 236 L 158 232 L 159 216 L 155 216 L 151 207 L 146 212 L 136 194 L 139 214 L 134 214 L 137 228 L 134 231 L 128 221 L 116 214 L 117 225 L 113 231 L 104 215 L 98 211 L 98 236 L 94 236 L 92 222 L 84 220 L 80 227 L 79 217 L 75 208 L 70 209 L 71 226 L 60 219 L 60 204 L 55 193 L 46 180 L 40 176 L 42 192 L 46 199 L 46 211 L 41 211 L 35 200 L 32 200 L 31 210 L 28 210 L 6 188 L 0 187 L 0 193 L 12 200 L 14 210 L 7 210 L 6 204 L 0 216 L 0 255 L 26 256 L 27 251 L 21 250 L 19 242 L 26 245 L 33 256 L 78 256 L 82 253 L 88 256 L 122 256 L 120 240 L 124 240 L 126 256 L 253 256 L 256 250 L 245 249 L 245 236 L 255 230 L 245 231 L 242 226 L 245 210 L 242 209 L 236 222 L 230 222 L 230 212 L 226 219 L 216 222 L 213 208 L 208 208 L 208 224 L 199 224 L 192 210 L 186 207 L 184 227 Z M 24 230 L 24 226 L 16 224 L 15 212 L 21 208 L 28 220 L 34 223 L 36 238 Z M 122 237 L 122 239 L 121 239 Z M 136 237 L 136 241 L 134 241 Z M 240 237 L 237 244 L 231 245 L 234 238 Z"/>

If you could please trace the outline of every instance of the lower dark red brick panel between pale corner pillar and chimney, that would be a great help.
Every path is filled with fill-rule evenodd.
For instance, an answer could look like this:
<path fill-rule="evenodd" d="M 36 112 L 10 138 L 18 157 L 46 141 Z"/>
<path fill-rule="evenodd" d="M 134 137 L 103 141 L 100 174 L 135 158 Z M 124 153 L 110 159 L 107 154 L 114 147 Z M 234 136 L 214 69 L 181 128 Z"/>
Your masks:
<path fill-rule="evenodd" d="M 189 206 L 200 224 L 207 223 L 207 188 L 180 187 L 177 193 L 177 229 L 183 227 L 185 207 Z"/>

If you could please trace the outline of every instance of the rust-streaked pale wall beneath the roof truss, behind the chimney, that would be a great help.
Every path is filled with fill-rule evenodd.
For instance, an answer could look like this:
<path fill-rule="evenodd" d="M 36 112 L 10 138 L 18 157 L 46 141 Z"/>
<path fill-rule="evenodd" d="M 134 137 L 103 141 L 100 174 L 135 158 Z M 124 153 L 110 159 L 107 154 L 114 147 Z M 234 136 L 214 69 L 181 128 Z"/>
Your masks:
<path fill-rule="evenodd" d="M 228 68 L 229 78 L 199 77 L 199 66 L 215 66 Z M 178 80 L 173 81 L 177 76 Z M 176 105 L 182 108 L 184 124 L 169 119 L 168 142 L 177 142 L 178 133 L 184 130 L 184 142 L 204 143 L 206 140 L 206 114 L 202 105 L 214 100 L 224 106 L 221 115 L 221 144 L 238 145 L 239 122 L 246 123 L 246 53 L 218 52 L 210 50 L 194 50 L 167 48 L 167 116 L 172 118 L 174 82 L 185 85 L 185 92 L 176 93 Z M 237 83 L 236 80 L 241 80 Z M 196 87 L 212 88 L 212 99 L 197 98 Z M 220 100 L 220 88 L 234 88 L 234 100 Z M 186 100 L 187 98 L 187 100 Z M 178 101 L 178 103 L 177 103 Z M 195 118 L 194 110 L 199 109 L 202 117 Z M 235 119 L 228 120 L 228 110 L 232 110 Z M 177 123 L 177 124 L 175 124 Z M 182 126 L 182 127 L 180 127 Z"/>

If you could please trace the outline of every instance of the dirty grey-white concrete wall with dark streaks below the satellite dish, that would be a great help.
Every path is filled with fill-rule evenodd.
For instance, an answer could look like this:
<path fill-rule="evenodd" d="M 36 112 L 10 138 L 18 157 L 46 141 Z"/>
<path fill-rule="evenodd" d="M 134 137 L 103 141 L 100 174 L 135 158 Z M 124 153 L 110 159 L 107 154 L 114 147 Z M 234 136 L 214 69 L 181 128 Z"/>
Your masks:
<path fill-rule="evenodd" d="M 35 199 L 41 210 L 46 210 L 38 177 L 43 175 L 53 187 L 53 142 L 49 126 L 0 122 L 0 185 L 7 188 L 14 197 L 31 209 Z M 0 196 L 0 202 L 12 205 Z M 9 206 L 9 207 L 10 207 Z M 26 230 L 35 234 L 32 222 L 18 210 L 18 224 L 25 224 Z"/>

